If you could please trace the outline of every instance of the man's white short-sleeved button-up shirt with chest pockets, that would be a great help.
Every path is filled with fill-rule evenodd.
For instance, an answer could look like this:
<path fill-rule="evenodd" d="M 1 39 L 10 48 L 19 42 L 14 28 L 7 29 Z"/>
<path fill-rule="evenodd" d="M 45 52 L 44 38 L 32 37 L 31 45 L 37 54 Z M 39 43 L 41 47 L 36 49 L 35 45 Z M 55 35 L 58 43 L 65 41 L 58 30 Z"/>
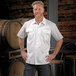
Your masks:
<path fill-rule="evenodd" d="M 17 34 L 20 38 L 27 36 L 27 55 L 26 63 L 42 65 L 48 64 L 46 56 L 49 55 L 51 36 L 56 41 L 63 38 L 55 23 L 43 18 L 39 24 L 35 19 L 24 23 Z"/>

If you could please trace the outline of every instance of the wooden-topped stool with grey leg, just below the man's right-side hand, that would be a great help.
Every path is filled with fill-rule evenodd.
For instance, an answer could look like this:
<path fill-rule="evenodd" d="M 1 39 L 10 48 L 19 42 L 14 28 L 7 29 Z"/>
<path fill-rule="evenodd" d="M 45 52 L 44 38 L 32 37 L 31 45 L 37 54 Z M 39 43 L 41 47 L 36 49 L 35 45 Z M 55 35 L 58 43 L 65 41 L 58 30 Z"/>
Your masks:
<path fill-rule="evenodd" d="M 51 60 L 51 76 L 64 76 L 63 60 Z"/>

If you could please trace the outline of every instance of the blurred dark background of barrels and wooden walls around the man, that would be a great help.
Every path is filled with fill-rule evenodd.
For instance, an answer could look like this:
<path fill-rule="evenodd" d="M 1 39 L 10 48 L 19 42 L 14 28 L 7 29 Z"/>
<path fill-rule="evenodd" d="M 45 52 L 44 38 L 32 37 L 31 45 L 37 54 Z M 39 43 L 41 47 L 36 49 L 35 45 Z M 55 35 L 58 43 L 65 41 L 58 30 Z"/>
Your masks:
<path fill-rule="evenodd" d="M 0 76 L 23 76 L 25 63 L 17 33 L 24 22 L 34 18 L 31 7 L 34 1 L 0 0 Z M 55 59 L 58 61 L 51 62 L 51 76 L 76 76 L 76 0 L 41 1 L 45 5 L 45 18 L 55 22 L 64 36 Z M 56 41 L 53 38 L 51 43 L 50 48 L 54 50 Z M 26 46 L 25 39 L 25 51 Z"/>

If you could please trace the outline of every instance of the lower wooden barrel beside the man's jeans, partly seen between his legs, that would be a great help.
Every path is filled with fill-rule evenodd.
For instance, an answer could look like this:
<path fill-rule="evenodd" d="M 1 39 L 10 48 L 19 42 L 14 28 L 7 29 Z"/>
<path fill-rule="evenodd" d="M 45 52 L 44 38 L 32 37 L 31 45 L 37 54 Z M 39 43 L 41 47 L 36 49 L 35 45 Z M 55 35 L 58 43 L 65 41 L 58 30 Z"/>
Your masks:
<path fill-rule="evenodd" d="M 9 67 L 9 76 L 23 76 L 24 74 L 24 62 L 21 59 L 14 60 Z M 37 75 L 37 72 L 35 73 Z"/>

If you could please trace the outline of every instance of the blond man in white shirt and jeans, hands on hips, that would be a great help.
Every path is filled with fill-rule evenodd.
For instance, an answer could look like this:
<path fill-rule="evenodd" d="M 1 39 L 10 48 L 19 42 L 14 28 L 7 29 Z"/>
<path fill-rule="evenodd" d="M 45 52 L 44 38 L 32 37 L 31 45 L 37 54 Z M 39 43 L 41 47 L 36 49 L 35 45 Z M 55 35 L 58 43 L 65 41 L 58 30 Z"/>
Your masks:
<path fill-rule="evenodd" d="M 50 76 L 50 60 L 58 54 L 63 36 L 56 24 L 44 18 L 42 1 L 32 3 L 35 18 L 24 23 L 17 36 L 22 58 L 25 60 L 24 76 Z M 51 35 L 57 40 L 56 48 L 49 54 Z M 24 38 L 27 36 L 27 52 L 24 51 Z"/>

